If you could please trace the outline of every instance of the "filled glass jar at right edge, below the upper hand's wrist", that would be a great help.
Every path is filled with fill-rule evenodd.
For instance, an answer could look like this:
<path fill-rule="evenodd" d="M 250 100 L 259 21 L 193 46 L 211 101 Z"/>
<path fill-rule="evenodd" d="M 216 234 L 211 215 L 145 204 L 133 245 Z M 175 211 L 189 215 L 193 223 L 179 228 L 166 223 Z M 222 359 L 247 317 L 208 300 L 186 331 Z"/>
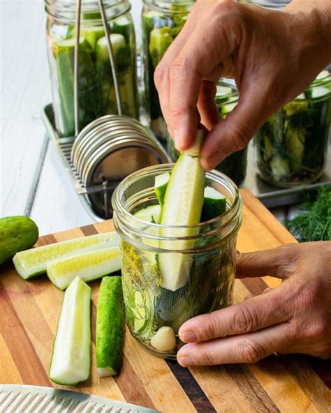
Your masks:
<path fill-rule="evenodd" d="M 270 117 L 256 134 L 260 177 L 282 188 L 316 181 L 325 166 L 331 119 L 331 76 L 323 70 L 309 89 Z"/>

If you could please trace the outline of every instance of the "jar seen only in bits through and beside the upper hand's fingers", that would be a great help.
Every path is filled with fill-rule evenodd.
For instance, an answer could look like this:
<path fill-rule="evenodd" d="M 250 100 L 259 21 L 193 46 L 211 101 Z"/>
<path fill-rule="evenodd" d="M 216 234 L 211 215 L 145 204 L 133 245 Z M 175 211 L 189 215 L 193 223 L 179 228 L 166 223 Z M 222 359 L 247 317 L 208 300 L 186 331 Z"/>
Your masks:
<path fill-rule="evenodd" d="M 219 110 L 219 117 L 220 119 L 226 119 L 227 115 L 237 105 L 239 95 L 235 87 L 224 86 L 222 80 L 219 81 L 216 88 L 215 103 Z M 178 159 L 179 151 L 175 148 L 175 142 L 169 134 L 167 134 L 167 150 L 173 161 Z M 246 177 L 247 147 L 231 153 L 215 169 L 228 175 L 239 186 Z"/>

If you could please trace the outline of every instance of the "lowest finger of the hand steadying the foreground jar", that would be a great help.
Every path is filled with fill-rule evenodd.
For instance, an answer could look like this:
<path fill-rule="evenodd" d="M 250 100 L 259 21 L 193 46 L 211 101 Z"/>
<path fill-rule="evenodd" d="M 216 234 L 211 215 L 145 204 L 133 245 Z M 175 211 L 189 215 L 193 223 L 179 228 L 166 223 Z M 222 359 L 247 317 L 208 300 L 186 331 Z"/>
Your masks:
<path fill-rule="evenodd" d="M 282 323 L 242 336 L 186 344 L 179 350 L 177 361 L 183 367 L 256 363 L 293 341 L 290 327 Z"/>

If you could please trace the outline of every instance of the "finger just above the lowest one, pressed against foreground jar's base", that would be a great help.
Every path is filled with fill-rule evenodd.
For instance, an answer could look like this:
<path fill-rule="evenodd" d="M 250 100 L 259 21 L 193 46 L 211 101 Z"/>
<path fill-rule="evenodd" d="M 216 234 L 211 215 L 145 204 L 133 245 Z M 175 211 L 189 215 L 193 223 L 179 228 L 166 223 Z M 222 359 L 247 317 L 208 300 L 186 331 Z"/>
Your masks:
<path fill-rule="evenodd" d="M 288 294 L 281 285 L 268 294 L 191 318 L 179 329 L 179 338 L 184 343 L 192 343 L 244 334 L 285 322 L 290 317 Z"/>

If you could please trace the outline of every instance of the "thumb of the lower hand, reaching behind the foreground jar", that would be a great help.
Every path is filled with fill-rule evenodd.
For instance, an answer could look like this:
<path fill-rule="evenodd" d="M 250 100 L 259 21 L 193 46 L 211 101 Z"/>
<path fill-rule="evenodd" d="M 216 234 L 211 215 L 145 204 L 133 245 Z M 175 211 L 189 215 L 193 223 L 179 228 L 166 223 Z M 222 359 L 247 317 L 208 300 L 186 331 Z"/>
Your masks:
<path fill-rule="evenodd" d="M 293 254 L 291 254 L 291 250 Z M 271 250 L 237 255 L 236 278 L 273 276 L 288 278 L 293 274 L 297 248 L 288 244 Z"/>

